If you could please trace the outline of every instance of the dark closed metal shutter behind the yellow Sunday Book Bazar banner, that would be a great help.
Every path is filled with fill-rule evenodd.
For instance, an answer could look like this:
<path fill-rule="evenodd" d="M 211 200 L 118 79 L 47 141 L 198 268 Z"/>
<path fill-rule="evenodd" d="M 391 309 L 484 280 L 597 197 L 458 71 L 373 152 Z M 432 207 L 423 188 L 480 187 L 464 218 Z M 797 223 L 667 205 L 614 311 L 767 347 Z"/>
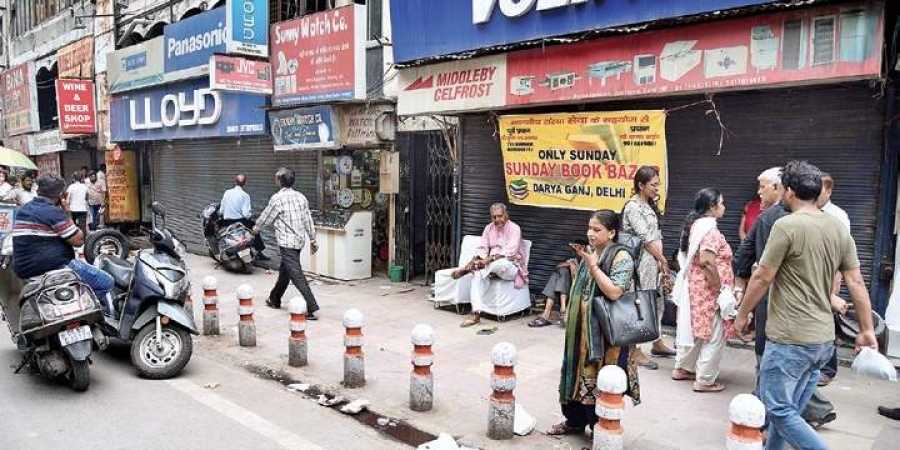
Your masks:
<path fill-rule="evenodd" d="M 713 186 L 722 191 L 728 210 L 719 228 L 736 249 L 741 211 L 756 192 L 759 173 L 791 159 L 804 159 L 834 176 L 832 200 L 850 216 L 868 282 L 879 207 L 884 123 L 884 102 L 876 94 L 866 82 L 717 94 L 715 102 L 729 130 L 719 156 L 720 129 L 707 114 L 708 105 L 670 114 L 666 126 L 669 200 L 663 218 L 666 256 L 671 257 L 677 249 L 683 219 L 699 189 Z M 701 100 L 684 96 L 527 112 L 671 109 Z M 480 234 L 489 221 L 489 205 L 507 201 L 495 129 L 494 120 L 486 115 L 462 117 L 460 217 L 464 235 Z M 572 255 L 565 244 L 584 237 L 589 213 L 512 206 L 510 217 L 522 227 L 524 238 L 534 241 L 529 270 L 531 289 L 538 292 L 553 267 Z"/>

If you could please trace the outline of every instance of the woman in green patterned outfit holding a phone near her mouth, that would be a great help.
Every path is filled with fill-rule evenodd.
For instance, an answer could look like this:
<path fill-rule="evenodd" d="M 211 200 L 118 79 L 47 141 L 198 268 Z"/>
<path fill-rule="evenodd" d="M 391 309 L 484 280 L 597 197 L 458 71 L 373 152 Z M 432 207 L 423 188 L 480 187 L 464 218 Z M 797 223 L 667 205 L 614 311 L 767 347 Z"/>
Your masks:
<path fill-rule="evenodd" d="M 589 245 L 570 244 L 581 262 L 569 292 L 566 317 L 566 343 L 559 381 L 559 402 L 566 420 L 551 427 L 547 434 L 583 433 L 585 427 L 597 423 L 595 403 L 597 373 L 615 364 L 628 375 L 626 394 L 634 404 L 640 403 L 636 352 L 634 346 L 613 347 L 606 343 L 601 325 L 591 313 L 593 299 L 602 295 L 618 300 L 634 288 L 634 260 L 622 247 L 613 248 L 619 230 L 619 215 L 608 209 L 595 212 L 588 223 Z M 602 267 L 609 267 L 605 273 Z"/>

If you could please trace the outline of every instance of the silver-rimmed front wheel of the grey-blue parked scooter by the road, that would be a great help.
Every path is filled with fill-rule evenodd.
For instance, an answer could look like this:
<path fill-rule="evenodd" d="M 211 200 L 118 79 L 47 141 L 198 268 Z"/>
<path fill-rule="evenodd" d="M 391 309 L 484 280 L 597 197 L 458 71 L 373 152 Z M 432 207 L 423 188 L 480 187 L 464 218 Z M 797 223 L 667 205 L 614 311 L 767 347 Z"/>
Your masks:
<path fill-rule="evenodd" d="M 181 327 L 163 325 L 161 339 L 156 323 L 144 325 L 131 343 L 131 363 L 143 378 L 163 380 L 181 373 L 191 359 L 194 344 L 191 334 Z"/>

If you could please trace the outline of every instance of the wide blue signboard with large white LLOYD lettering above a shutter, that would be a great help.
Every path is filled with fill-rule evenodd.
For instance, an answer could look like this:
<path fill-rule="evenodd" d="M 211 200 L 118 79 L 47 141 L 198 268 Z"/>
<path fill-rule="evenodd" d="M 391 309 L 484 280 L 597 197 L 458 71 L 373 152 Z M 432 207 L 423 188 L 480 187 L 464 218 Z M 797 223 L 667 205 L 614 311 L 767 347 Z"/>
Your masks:
<path fill-rule="evenodd" d="M 213 91 L 198 78 L 113 95 L 113 142 L 234 137 L 266 133 L 267 97 Z"/>

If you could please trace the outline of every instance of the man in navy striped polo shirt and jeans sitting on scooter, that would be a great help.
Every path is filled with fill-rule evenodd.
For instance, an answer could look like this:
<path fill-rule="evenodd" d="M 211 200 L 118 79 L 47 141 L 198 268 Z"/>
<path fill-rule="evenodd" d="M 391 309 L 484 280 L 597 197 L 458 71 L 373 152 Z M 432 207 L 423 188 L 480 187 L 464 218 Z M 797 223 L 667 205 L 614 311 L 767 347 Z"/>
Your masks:
<path fill-rule="evenodd" d="M 84 233 L 59 206 L 66 182 L 53 175 L 38 178 L 38 196 L 19 208 L 13 227 L 13 270 L 22 280 L 68 267 L 93 289 L 104 308 L 113 278 L 75 258 L 73 247 L 84 245 Z"/>

